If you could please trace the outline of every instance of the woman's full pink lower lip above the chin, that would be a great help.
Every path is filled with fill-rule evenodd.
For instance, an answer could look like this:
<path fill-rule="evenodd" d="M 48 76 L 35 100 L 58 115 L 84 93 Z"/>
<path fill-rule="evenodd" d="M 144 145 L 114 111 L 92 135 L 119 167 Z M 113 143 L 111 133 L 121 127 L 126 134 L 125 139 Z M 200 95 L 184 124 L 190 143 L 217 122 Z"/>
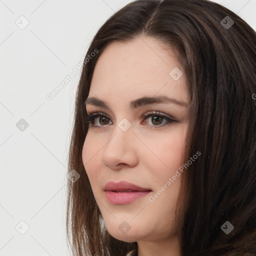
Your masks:
<path fill-rule="evenodd" d="M 134 192 L 113 192 L 105 191 L 106 199 L 112 204 L 130 203 L 151 191 L 134 191 Z"/>

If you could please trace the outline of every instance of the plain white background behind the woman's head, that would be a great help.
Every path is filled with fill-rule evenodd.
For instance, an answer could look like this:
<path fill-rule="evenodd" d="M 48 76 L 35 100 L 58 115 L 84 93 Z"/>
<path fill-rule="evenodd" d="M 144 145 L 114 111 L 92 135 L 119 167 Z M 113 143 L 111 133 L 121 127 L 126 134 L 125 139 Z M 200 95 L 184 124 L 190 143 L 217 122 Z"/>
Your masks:
<path fill-rule="evenodd" d="M 0 0 L 0 256 L 69 254 L 65 174 L 79 73 L 51 100 L 46 94 L 130 1 Z M 256 0 L 216 2 L 256 30 Z M 15 24 L 21 15 L 29 21 L 24 29 Z M 29 124 L 23 131 L 21 118 Z M 21 220 L 29 226 L 24 234 L 15 229 L 25 227 Z"/>

